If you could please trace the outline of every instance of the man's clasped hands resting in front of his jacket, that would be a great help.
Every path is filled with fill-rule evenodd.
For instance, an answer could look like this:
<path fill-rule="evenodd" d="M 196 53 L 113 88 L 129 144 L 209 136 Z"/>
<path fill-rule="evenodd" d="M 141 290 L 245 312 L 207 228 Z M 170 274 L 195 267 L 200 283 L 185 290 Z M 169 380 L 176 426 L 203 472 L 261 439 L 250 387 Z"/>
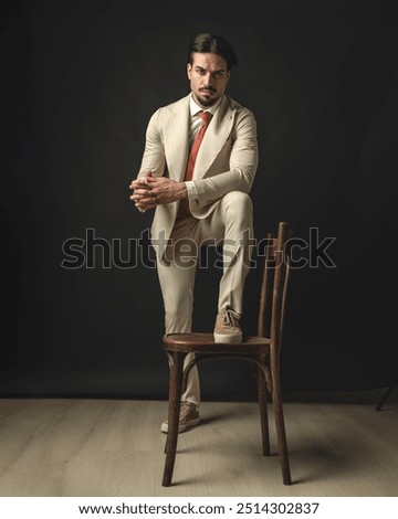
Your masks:
<path fill-rule="evenodd" d="M 140 212 L 187 198 L 184 182 L 175 182 L 166 177 L 153 177 L 149 170 L 145 172 L 145 177 L 133 180 L 129 189 L 133 191 L 130 200 Z"/>

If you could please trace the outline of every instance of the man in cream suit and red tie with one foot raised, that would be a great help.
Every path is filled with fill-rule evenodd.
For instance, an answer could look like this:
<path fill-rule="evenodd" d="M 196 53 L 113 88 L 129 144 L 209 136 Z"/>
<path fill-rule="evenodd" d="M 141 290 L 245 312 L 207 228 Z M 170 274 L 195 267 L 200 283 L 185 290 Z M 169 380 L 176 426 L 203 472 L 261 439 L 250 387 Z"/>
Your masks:
<path fill-rule="evenodd" d="M 258 168 L 253 114 L 228 95 L 232 46 L 220 35 L 199 34 L 189 45 L 190 93 L 151 116 L 137 179 L 135 206 L 155 209 L 151 244 L 165 307 L 165 331 L 191 331 L 198 247 L 223 246 L 214 340 L 240 342 L 244 279 L 253 239 L 249 197 Z M 190 360 L 187 356 L 186 363 Z M 181 399 L 179 432 L 199 423 L 197 368 Z M 167 422 L 161 424 L 167 432 Z"/>

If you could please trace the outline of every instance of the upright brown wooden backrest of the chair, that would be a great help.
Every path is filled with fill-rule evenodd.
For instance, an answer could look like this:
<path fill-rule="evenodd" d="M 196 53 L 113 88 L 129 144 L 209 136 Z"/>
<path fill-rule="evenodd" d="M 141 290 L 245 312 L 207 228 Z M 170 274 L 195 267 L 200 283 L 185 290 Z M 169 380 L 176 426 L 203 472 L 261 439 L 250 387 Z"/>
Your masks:
<path fill-rule="evenodd" d="M 265 240 L 261 277 L 258 335 L 271 339 L 271 356 L 281 350 L 286 293 L 290 274 L 289 240 L 292 236 L 289 222 L 280 222 L 276 236 Z"/>

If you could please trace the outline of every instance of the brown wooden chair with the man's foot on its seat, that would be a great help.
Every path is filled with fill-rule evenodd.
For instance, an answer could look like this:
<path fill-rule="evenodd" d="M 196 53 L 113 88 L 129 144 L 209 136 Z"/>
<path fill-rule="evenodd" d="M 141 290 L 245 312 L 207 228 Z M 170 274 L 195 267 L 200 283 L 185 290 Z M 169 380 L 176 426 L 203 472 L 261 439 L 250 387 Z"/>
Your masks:
<path fill-rule="evenodd" d="M 291 235 L 287 222 L 279 223 L 276 236 L 268 235 L 256 336 L 243 337 L 241 343 L 216 343 L 213 335 L 207 332 L 171 333 L 163 337 L 163 348 L 169 361 L 168 433 L 163 486 L 171 485 L 181 394 L 188 373 L 193 366 L 203 361 L 226 358 L 244 360 L 256 366 L 263 455 L 271 454 L 266 404 L 270 394 L 274 410 L 282 478 L 285 485 L 292 484 L 280 380 L 280 351 L 291 271 L 287 242 Z M 195 359 L 184 368 L 184 359 L 188 353 L 195 353 Z"/>

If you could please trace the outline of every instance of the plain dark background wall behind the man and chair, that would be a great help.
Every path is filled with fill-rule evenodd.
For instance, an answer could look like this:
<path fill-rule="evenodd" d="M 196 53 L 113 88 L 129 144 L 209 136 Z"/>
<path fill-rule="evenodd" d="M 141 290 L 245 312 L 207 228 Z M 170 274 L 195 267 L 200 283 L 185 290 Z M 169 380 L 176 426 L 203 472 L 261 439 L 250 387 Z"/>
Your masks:
<path fill-rule="evenodd" d="M 3 3 L 1 395 L 166 395 L 151 214 L 134 209 L 128 184 L 149 116 L 188 93 L 187 46 L 202 31 L 234 45 L 240 64 L 229 94 L 256 116 L 258 236 L 289 220 L 304 241 L 312 230 L 320 242 L 335 239 L 334 268 L 320 261 L 294 272 L 284 388 L 389 385 L 397 377 L 392 4 Z M 71 239 L 85 247 L 80 268 L 62 266 Z M 212 329 L 218 279 L 216 268 L 198 273 L 196 329 Z M 249 332 L 256 284 L 252 272 Z M 205 396 L 250 393 L 252 384 L 250 367 L 202 367 Z"/>

